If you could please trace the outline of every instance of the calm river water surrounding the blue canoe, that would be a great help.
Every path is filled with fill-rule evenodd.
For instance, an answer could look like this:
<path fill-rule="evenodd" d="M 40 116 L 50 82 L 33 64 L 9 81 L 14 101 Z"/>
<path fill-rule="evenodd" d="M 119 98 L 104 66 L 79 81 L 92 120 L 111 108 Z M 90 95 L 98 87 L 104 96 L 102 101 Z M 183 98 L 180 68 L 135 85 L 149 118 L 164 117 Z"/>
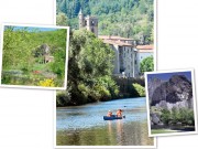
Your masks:
<path fill-rule="evenodd" d="M 64 107 L 56 110 L 57 146 L 153 146 L 147 137 L 145 98 Z M 125 119 L 103 120 L 123 109 Z"/>

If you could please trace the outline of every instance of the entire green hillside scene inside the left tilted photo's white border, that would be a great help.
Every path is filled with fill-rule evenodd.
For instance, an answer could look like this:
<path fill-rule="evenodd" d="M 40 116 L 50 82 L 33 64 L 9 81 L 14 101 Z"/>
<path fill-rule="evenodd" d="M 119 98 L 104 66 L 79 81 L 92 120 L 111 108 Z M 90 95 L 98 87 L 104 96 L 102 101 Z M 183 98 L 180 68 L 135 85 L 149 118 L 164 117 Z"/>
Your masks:
<path fill-rule="evenodd" d="M 1 84 L 64 87 L 66 29 L 6 25 Z"/>

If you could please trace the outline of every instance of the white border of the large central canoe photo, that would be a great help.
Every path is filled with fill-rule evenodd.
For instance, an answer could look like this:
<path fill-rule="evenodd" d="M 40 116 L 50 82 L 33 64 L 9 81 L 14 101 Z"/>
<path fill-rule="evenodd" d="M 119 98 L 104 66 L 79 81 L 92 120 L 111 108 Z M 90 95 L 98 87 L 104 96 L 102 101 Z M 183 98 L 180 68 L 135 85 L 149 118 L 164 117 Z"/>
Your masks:
<path fill-rule="evenodd" d="M 157 68 L 157 0 L 153 0 L 154 1 L 154 70 L 156 71 Z M 54 24 L 56 24 L 56 0 L 54 0 Z M 150 136 L 148 136 L 150 137 Z M 154 139 L 154 146 L 56 146 L 56 92 L 54 95 L 54 148 L 56 149 L 65 149 L 65 148 L 82 148 L 82 149 L 87 149 L 87 148 L 133 148 L 133 149 L 156 149 L 157 148 L 157 139 L 156 137 L 153 138 Z"/>

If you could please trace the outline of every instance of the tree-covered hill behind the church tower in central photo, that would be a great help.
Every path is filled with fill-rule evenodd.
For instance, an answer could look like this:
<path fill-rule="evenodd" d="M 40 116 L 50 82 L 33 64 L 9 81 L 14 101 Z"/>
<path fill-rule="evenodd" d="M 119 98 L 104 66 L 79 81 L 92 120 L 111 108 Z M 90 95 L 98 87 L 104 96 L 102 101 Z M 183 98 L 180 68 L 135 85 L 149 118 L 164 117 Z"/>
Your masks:
<path fill-rule="evenodd" d="M 78 12 L 99 19 L 99 34 L 120 35 L 153 43 L 154 0 L 56 0 L 57 11 L 78 29 Z"/>

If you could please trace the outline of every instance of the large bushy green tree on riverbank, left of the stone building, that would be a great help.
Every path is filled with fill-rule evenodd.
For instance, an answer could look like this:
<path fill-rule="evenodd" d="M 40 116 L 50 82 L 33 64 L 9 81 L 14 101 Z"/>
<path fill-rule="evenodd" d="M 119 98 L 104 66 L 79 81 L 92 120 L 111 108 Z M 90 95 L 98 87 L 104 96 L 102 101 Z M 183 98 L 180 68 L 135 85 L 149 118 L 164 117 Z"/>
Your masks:
<path fill-rule="evenodd" d="M 119 94 L 111 78 L 113 51 L 94 33 L 70 33 L 68 88 L 57 94 L 57 106 L 109 100 Z"/>

